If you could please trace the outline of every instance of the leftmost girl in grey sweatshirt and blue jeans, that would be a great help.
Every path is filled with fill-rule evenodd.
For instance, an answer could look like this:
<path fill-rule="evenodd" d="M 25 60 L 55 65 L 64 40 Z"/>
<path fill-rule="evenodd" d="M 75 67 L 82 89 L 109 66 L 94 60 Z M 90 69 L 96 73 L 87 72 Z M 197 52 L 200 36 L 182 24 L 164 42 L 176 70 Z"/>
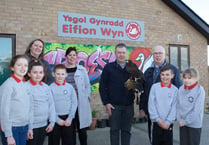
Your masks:
<path fill-rule="evenodd" d="M 16 55 L 10 62 L 12 75 L 1 86 L 1 127 L 3 145 L 25 145 L 32 132 L 32 99 L 24 76 L 28 59 Z"/>

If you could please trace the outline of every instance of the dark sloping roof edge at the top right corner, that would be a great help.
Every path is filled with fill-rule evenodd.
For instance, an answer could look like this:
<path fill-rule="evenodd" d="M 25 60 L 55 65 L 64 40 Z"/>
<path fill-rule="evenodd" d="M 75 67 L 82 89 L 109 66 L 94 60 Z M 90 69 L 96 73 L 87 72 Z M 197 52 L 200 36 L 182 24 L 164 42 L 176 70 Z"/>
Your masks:
<path fill-rule="evenodd" d="M 209 44 L 209 25 L 203 19 L 181 0 L 162 1 L 197 29 L 207 39 L 207 44 Z"/>

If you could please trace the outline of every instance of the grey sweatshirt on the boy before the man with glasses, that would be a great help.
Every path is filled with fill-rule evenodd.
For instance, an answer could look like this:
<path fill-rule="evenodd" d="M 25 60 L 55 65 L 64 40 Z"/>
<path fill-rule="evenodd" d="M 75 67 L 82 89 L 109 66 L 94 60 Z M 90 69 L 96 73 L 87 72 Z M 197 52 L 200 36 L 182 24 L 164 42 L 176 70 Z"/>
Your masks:
<path fill-rule="evenodd" d="M 176 98 L 178 89 L 162 87 L 161 83 L 153 84 L 149 94 L 148 111 L 152 122 L 162 119 L 170 125 L 176 119 Z"/>

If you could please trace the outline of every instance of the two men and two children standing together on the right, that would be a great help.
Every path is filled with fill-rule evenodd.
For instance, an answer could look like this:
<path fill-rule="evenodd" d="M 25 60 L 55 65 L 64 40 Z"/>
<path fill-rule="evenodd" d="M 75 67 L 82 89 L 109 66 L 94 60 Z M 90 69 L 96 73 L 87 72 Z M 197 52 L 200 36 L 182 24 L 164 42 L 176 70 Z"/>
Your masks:
<path fill-rule="evenodd" d="M 136 78 L 126 67 L 125 44 L 116 45 L 115 62 L 105 65 L 102 71 L 99 92 L 109 114 L 111 145 L 130 145 L 133 104 L 139 86 L 144 87 L 140 91 L 139 113 L 148 119 L 152 145 L 173 145 L 175 120 L 180 127 L 180 145 L 199 145 L 205 91 L 198 83 L 198 71 L 186 69 L 182 84 L 178 69 L 166 60 L 165 48 L 154 46 L 152 53 L 154 61 L 141 78 L 144 81 L 135 81 L 135 85 L 129 85 L 132 87 L 126 87 L 127 80 Z"/>

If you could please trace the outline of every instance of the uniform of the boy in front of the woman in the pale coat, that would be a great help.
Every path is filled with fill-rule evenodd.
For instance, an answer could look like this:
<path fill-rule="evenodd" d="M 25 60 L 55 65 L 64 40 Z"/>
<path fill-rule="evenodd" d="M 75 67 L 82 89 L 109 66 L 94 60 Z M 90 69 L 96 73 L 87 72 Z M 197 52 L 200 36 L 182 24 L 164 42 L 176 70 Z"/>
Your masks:
<path fill-rule="evenodd" d="M 53 145 L 59 145 L 60 139 L 62 139 L 62 145 L 74 145 L 72 120 L 75 116 L 77 109 L 77 96 L 75 89 L 71 84 L 66 83 L 59 84 L 54 82 L 50 85 L 52 96 L 55 102 L 56 109 L 56 122 L 59 120 L 70 120 L 71 125 L 59 126 L 55 124 L 53 132 L 50 134 L 49 139 L 53 142 Z"/>

